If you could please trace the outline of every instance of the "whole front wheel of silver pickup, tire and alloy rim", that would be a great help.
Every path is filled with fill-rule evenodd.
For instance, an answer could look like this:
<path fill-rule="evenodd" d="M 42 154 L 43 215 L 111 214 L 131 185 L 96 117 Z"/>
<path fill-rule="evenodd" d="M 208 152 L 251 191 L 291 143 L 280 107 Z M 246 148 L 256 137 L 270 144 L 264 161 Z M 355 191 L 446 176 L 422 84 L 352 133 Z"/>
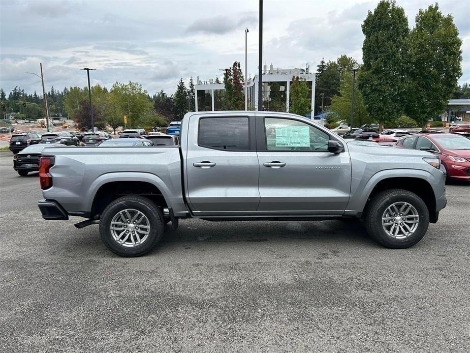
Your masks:
<path fill-rule="evenodd" d="M 370 200 L 364 224 L 369 236 L 383 246 L 409 248 L 424 237 L 429 225 L 429 211 L 413 192 L 385 190 Z"/>

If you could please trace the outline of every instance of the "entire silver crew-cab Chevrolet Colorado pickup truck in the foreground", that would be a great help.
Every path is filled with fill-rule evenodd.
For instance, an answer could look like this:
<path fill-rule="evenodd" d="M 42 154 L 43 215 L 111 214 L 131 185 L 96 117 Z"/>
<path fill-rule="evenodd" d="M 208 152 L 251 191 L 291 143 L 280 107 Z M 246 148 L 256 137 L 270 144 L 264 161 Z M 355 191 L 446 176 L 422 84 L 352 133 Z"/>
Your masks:
<path fill-rule="evenodd" d="M 430 153 L 346 142 L 304 117 L 277 112 L 192 112 L 180 145 L 50 148 L 40 162 L 44 219 L 82 228 L 122 256 L 139 256 L 165 224 L 361 218 L 389 248 L 421 240 L 446 205 Z M 170 226 L 170 225 L 169 225 Z"/>

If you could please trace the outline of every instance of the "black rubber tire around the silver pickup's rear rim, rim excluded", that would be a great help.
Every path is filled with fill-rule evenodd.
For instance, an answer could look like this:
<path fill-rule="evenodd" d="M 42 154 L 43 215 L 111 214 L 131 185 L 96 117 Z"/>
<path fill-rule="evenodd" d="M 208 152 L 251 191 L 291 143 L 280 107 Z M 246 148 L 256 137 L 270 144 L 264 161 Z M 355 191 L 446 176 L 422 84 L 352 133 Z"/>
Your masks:
<path fill-rule="evenodd" d="M 119 245 L 111 233 L 111 220 L 122 210 L 134 209 L 143 213 L 150 226 L 147 239 L 140 245 L 125 247 Z M 143 196 L 123 196 L 111 202 L 103 211 L 100 220 L 100 237 L 109 250 L 117 255 L 125 257 L 142 256 L 152 250 L 162 239 L 164 219 L 161 209 L 150 199 Z"/>

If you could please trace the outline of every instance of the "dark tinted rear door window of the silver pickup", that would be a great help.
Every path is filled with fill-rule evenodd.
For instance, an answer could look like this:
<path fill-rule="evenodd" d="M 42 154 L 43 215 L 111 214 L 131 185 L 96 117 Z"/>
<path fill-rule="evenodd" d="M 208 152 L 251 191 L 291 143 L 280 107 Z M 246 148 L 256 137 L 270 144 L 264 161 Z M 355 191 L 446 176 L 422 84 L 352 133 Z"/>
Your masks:
<path fill-rule="evenodd" d="M 203 117 L 199 120 L 198 144 L 215 150 L 248 151 L 248 117 Z"/>

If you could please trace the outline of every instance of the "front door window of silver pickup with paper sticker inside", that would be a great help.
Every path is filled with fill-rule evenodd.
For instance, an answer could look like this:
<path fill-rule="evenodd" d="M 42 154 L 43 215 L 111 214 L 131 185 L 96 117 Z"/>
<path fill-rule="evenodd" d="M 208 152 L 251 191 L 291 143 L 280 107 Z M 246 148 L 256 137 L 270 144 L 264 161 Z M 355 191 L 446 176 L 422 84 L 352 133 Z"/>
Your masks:
<path fill-rule="evenodd" d="M 265 118 L 264 125 L 268 151 L 328 152 L 329 135 L 314 126 L 271 117 Z"/>

